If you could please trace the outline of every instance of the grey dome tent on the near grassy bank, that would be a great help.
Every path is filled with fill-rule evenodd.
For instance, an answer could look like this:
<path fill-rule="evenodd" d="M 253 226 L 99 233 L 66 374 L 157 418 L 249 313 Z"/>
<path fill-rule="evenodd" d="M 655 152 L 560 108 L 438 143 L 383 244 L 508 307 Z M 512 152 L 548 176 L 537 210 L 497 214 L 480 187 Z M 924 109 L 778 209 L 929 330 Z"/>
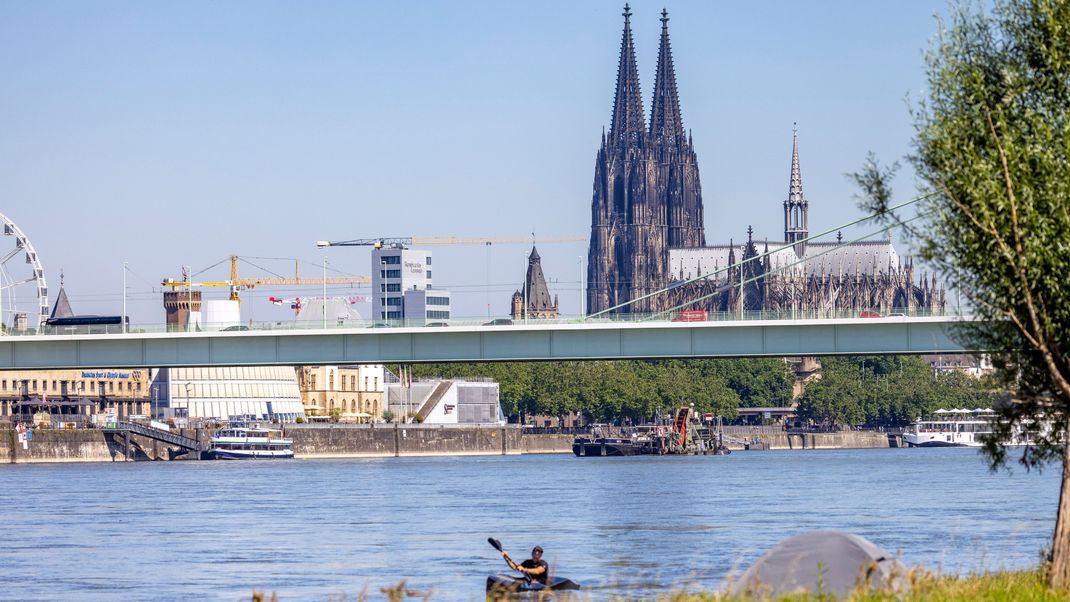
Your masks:
<path fill-rule="evenodd" d="M 832 593 L 845 598 L 869 580 L 871 589 L 903 589 L 905 568 L 872 541 L 843 531 L 785 539 L 730 585 L 735 595 Z"/>

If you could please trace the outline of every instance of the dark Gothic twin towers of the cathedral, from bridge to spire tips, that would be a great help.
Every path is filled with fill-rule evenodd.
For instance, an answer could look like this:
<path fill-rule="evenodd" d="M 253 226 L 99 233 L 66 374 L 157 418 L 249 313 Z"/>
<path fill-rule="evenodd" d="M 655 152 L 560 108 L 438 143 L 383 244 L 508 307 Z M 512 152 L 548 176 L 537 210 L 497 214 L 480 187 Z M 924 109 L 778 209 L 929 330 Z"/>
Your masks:
<path fill-rule="evenodd" d="M 613 118 L 595 160 L 587 253 L 591 312 L 661 289 L 669 280 L 669 249 L 701 247 L 706 242 L 699 164 L 681 115 L 669 16 L 661 12 L 649 128 L 643 113 L 630 19 L 631 11 L 625 5 Z M 651 311 L 654 307 L 653 299 L 645 299 L 624 311 Z"/>

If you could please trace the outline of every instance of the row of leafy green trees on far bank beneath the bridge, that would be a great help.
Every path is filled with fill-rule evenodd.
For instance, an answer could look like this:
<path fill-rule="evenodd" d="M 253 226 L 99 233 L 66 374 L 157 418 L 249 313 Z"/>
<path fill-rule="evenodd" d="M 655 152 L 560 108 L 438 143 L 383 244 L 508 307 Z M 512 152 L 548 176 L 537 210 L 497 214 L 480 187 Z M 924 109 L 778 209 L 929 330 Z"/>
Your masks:
<path fill-rule="evenodd" d="M 984 383 L 952 372 L 936 377 L 917 357 L 825 358 L 798 413 L 814 422 L 904 425 L 938 407 L 991 407 Z M 596 421 L 649 420 L 694 403 L 734 418 L 739 407 L 786 406 L 795 376 L 782 359 L 432 364 L 416 376 L 489 377 L 501 385 L 510 415 L 564 416 Z"/>

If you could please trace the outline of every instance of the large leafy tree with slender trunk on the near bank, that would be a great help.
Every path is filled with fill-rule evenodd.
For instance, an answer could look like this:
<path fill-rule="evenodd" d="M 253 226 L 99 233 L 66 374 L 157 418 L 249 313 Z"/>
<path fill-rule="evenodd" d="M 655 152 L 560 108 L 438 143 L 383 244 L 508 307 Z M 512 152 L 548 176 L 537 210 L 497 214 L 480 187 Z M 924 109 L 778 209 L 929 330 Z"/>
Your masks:
<path fill-rule="evenodd" d="M 1018 429 L 1052 426 L 1021 462 L 1063 461 L 1049 578 L 1070 589 L 1070 2 L 976 6 L 939 22 L 927 53 L 911 161 L 933 196 L 915 236 L 977 319 L 954 336 L 990 350 L 1013 391 L 987 446 L 993 467 Z"/>

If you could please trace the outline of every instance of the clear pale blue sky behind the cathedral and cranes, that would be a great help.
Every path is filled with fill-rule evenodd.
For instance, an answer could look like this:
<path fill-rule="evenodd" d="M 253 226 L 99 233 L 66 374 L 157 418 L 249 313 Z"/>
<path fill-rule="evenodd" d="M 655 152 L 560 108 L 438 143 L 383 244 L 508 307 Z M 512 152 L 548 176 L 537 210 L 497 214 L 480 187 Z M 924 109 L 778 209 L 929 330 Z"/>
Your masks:
<path fill-rule="evenodd" d="M 793 123 L 811 233 L 860 217 L 844 173 L 869 151 L 884 163 L 911 152 L 908 109 L 946 5 L 633 1 L 647 115 L 662 7 L 707 242 L 738 241 L 748 226 L 782 235 Z M 126 262 L 138 324 L 163 322 L 160 279 L 183 265 L 226 279 L 226 263 L 203 269 L 230 254 L 265 269 L 243 263 L 242 276 L 292 275 L 294 259 L 317 276 L 324 258 L 331 275 L 369 275 L 369 249 L 315 242 L 585 236 L 622 9 L 9 0 L 0 213 L 35 247 L 51 299 L 62 271 L 77 313 L 121 311 Z M 896 196 L 916 189 L 905 166 Z M 455 317 L 508 312 L 529 245 L 431 249 Z M 576 313 L 586 243 L 539 253 L 562 312 Z M 243 318 L 285 320 L 269 296 L 319 294 L 247 291 Z"/>

